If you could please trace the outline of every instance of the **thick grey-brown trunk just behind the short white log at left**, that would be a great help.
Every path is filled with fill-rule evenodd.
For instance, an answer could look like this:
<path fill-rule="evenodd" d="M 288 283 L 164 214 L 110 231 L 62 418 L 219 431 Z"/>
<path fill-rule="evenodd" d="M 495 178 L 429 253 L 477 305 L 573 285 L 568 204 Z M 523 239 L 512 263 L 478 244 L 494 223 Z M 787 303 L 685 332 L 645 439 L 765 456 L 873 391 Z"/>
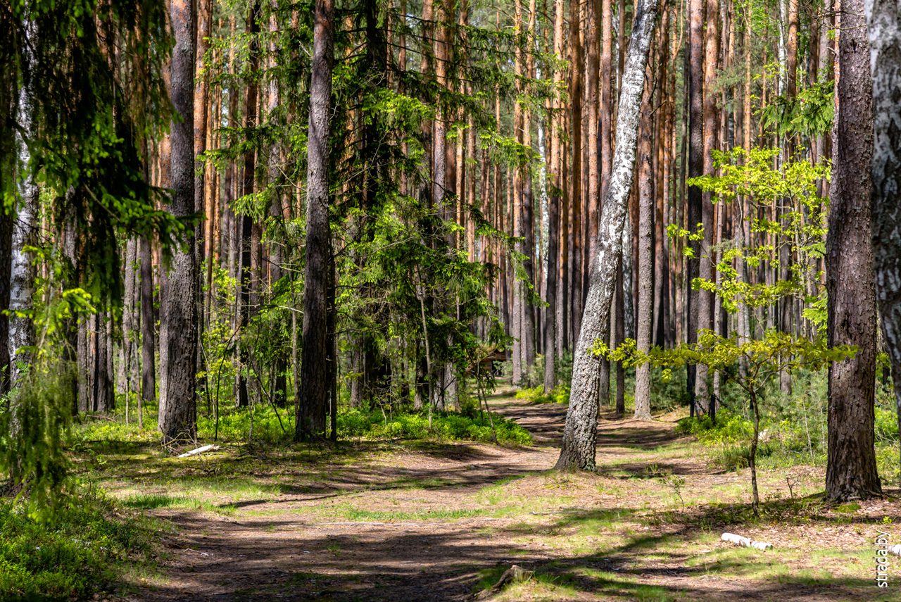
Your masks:
<path fill-rule="evenodd" d="M 170 95 L 177 113 L 170 137 L 171 212 L 195 212 L 194 199 L 194 2 L 171 4 L 175 48 L 172 51 Z M 199 269 L 196 241 L 188 234 L 185 247 L 173 252 L 172 270 L 160 293 L 159 431 L 164 444 L 196 440 L 197 301 Z"/>

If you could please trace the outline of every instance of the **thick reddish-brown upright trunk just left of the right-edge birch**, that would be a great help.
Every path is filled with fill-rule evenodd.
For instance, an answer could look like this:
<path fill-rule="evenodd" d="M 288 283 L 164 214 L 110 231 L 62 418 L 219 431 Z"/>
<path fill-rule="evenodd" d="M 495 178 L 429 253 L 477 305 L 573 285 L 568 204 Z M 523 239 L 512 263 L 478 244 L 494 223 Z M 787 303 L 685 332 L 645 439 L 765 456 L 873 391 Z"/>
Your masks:
<path fill-rule="evenodd" d="M 829 234 L 826 239 L 829 346 L 856 345 L 851 360 L 829 367 L 826 496 L 881 495 L 874 448 L 876 289 L 869 197 L 873 99 L 863 0 L 842 0 L 838 111 L 833 125 Z"/>

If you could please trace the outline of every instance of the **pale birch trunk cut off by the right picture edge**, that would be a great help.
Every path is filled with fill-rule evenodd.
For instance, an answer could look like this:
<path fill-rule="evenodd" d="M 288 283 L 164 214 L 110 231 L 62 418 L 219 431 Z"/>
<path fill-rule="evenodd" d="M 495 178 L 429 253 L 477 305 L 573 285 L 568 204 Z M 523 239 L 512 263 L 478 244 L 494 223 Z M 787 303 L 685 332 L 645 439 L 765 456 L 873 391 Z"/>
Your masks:
<path fill-rule="evenodd" d="M 901 15 L 889 0 L 867 5 L 873 69 L 873 257 L 882 333 L 892 361 L 898 424 L 901 424 Z"/>

